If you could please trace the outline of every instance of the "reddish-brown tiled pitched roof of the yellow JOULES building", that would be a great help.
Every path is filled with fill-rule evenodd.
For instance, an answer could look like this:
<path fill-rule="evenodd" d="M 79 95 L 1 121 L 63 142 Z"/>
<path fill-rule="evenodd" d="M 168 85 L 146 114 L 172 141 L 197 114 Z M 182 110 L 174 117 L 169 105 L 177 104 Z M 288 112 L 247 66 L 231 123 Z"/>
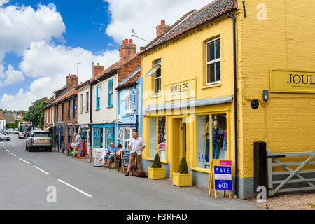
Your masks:
<path fill-rule="evenodd" d="M 237 6 L 237 0 L 215 0 L 200 10 L 192 10 L 183 15 L 164 35 L 155 38 L 155 40 L 149 43 L 141 53 L 151 50 L 162 43 L 171 41 L 177 36 L 181 36 L 200 25 L 204 25 L 225 13 L 231 12 L 237 9 Z"/>

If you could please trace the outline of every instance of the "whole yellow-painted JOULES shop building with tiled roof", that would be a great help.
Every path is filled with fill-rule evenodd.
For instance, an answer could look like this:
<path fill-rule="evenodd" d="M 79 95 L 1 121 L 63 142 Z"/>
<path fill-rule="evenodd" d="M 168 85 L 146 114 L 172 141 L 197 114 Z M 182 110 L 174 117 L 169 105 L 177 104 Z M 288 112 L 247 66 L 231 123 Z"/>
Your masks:
<path fill-rule="evenodd" d="M 239 196 L 251 197 L 255 141 L 272 152 L 314 151 L 314 8 L 216 0 L 170 27 L 162 21 L 141 49 L 144 169 L 159 152 L 172 179 L 186 157 L 193 184 L 207 187 L 209 160 L 232 160 Z"/>

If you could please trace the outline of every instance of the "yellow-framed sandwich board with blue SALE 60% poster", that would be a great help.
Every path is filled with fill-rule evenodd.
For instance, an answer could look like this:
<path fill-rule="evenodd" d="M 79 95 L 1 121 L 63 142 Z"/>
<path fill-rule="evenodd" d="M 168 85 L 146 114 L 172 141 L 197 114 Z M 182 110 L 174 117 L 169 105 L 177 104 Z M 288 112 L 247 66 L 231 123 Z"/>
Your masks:
<path fill-rule="evenodd" d="M 210 166 L 209 176 L 209 197 L 211 191 L 214 189 L 214 195 L 218 198 L 217 191 L 223 190 L 223 197 L 225 192 L 229 192 L 230 199 L 232 198 L 232 161 L 230 160 L 212 160 Z"/>

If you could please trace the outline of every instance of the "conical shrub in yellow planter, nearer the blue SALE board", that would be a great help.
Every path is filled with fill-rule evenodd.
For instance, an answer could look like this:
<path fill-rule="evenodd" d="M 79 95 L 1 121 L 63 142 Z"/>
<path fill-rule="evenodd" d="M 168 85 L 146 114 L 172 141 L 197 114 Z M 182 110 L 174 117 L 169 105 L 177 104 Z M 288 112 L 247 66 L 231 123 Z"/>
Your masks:
<path fill-rule="evenodd" d="M 181 159 L 181 164 L 179 165 L 179 172 L 173 172 L 173 185 L 182 186 L 193 186 L 193 174 L 188 172 L 188 165 L 186 162 L 186 157 Z"/>

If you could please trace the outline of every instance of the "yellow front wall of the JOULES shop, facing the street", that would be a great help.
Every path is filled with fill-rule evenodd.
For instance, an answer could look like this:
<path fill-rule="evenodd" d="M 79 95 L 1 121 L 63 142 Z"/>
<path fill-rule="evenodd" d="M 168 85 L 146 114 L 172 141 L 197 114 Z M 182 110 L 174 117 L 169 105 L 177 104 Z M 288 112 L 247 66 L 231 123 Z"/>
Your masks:
<path fill-rule="evenodd" d="M 205 85 L 206 78 L 206 42 L 220 36 L 221 38 L 221 84 Z M 153 76 L 144 77 L 144 107 L 147 105 L 166 104 L 167 97 L 165 95 L 165 85 L 169 83 L 181 83 L 192 78 L 196 79 L 196 98 L 208 99 L 216 97 L 226 97 L 233 95 L 233 45 L 232 45 L 232 20 L 221 18 L 214 23 L 209 23 L 207 27 L 202 27 L 197 31 L 190 32 L 180 40 L 162 45 L 151 52 L 142 55 L 142 73 L 145 76 L 153 67 L 156 60 L 161 59 L 162 62 L 162 94 L 160 97 L 154 95 Z M 186 100 L 186 99 L 184 99 Z M 209 113 L 210 111 L 230 111 L 232 104 L 220 106 L 207 106 L 196 108 L 195 111 L 188 113 Z M 177 111 L 179 112 L 179 111 Z M 172 130 L 174 110 L 163 112 L 159 116 L 167 116 L 167 161 L 172 166 Z M 187 111 L 181 111 L 179 114 L 187 116 Z M 146 113 L 144 119 L 144 139 L 146 145 L 149 146 L 148 137 L 148 117 L 157 116 L 155 113 Z M 230 119 L 234 120 L 234 114 L 229 113 Z M 193 114 L 195 118 L 195 114 Z M 197 161 L 196 149 L 196 125 L 195 120 L 187 125 L 188 134 L 188 165 L 195 167 Z M 229 121 L 228 121 L 229 122 Z M 230 142 L 234 140 L 234 123 L 230 125 Z M 234 146 L 230 146 L 230 155 L 234 160 Z M 144 151 L 144 155 L 148 155 L 148 147 Z M 146 157 L 146 156 L 144 156 Z M 171 167 L 172 170 L 172 167 Z"/>

